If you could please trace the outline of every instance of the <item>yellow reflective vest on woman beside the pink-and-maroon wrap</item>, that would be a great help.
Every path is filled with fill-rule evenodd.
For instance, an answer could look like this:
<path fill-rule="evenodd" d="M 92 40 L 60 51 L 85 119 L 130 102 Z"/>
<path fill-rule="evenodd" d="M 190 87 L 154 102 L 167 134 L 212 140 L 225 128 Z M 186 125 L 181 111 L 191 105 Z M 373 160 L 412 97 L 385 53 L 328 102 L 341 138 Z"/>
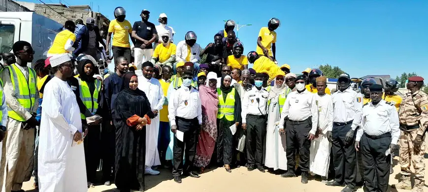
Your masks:
<path fill-rule="evenodd" d="M 217 88 L 219 94 L 219 112 L 217 118 L 222 119 L 226 116 L 228 121 L 233 121 L 233 112 L 235 111 L 235 88 L 232 88 L 228 96 L 226 96 L 226 102 L 223 100 L 223 92 L 220 88 Z"/>

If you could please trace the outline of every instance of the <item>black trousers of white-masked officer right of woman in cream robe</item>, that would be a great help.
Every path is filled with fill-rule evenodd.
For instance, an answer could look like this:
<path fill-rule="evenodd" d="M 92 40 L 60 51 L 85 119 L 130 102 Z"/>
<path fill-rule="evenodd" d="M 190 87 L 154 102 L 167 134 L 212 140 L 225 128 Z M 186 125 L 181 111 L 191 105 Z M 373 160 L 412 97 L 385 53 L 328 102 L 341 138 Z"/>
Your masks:
<path fill-rule="evenodd" d="M 309 171 L 309 148 L 311 141 L 308 139 L 309 131 L 312 129 L 312 120 L 307 118 L 303 121 L 286 121 L 286 153 L 287 169 L 296 169 L 296 151 L 299 153 L 298 166 L 301 171 Z"/>

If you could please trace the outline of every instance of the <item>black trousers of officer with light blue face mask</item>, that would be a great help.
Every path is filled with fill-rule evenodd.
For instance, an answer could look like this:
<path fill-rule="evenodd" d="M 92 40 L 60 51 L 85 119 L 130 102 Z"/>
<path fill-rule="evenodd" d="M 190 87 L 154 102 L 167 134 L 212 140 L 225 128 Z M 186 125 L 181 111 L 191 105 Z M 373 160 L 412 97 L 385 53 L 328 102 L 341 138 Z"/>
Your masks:
<path fill-rule="evenodd" d="M 265 115 L 247 115 L 247 162 L 250 166 L 261 166 L 263 162 L 263 143 L 266 135 Z"/>

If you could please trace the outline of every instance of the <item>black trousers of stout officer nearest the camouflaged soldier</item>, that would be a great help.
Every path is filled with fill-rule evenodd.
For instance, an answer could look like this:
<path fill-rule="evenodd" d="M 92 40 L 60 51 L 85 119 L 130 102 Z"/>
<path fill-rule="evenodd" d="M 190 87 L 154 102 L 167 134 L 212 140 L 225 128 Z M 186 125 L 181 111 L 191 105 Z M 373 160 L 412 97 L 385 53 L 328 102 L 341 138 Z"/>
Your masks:
<path fill-rule="evenodd" d="M 386 192 L 390 179 L 391 155 L 386 156 L 391 143 L 391 133 L 380 136 L 363 134 L 360 139 L 362 170 L 367 192 Z"/>

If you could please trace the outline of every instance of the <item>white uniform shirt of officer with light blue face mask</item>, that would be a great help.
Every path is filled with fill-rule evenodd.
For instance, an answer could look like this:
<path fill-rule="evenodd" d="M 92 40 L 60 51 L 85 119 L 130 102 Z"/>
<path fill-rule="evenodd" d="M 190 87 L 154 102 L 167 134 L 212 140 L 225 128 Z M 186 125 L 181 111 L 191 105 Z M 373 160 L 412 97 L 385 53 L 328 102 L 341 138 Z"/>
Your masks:
<path fill-rule="evenodd" d="M 266 114 L 267 96 L 269 96 L 269 93 L 265 88 L 261 88 L 259 90 L 257 87 L 253 87 L 251 90 L 247 90 L 247 92 L 245 92 L 241 111 L 242 123 L 247 123 L 247 114 Z M 259 101 L 257 101 L 257 99 L 259 99 Z"/>

